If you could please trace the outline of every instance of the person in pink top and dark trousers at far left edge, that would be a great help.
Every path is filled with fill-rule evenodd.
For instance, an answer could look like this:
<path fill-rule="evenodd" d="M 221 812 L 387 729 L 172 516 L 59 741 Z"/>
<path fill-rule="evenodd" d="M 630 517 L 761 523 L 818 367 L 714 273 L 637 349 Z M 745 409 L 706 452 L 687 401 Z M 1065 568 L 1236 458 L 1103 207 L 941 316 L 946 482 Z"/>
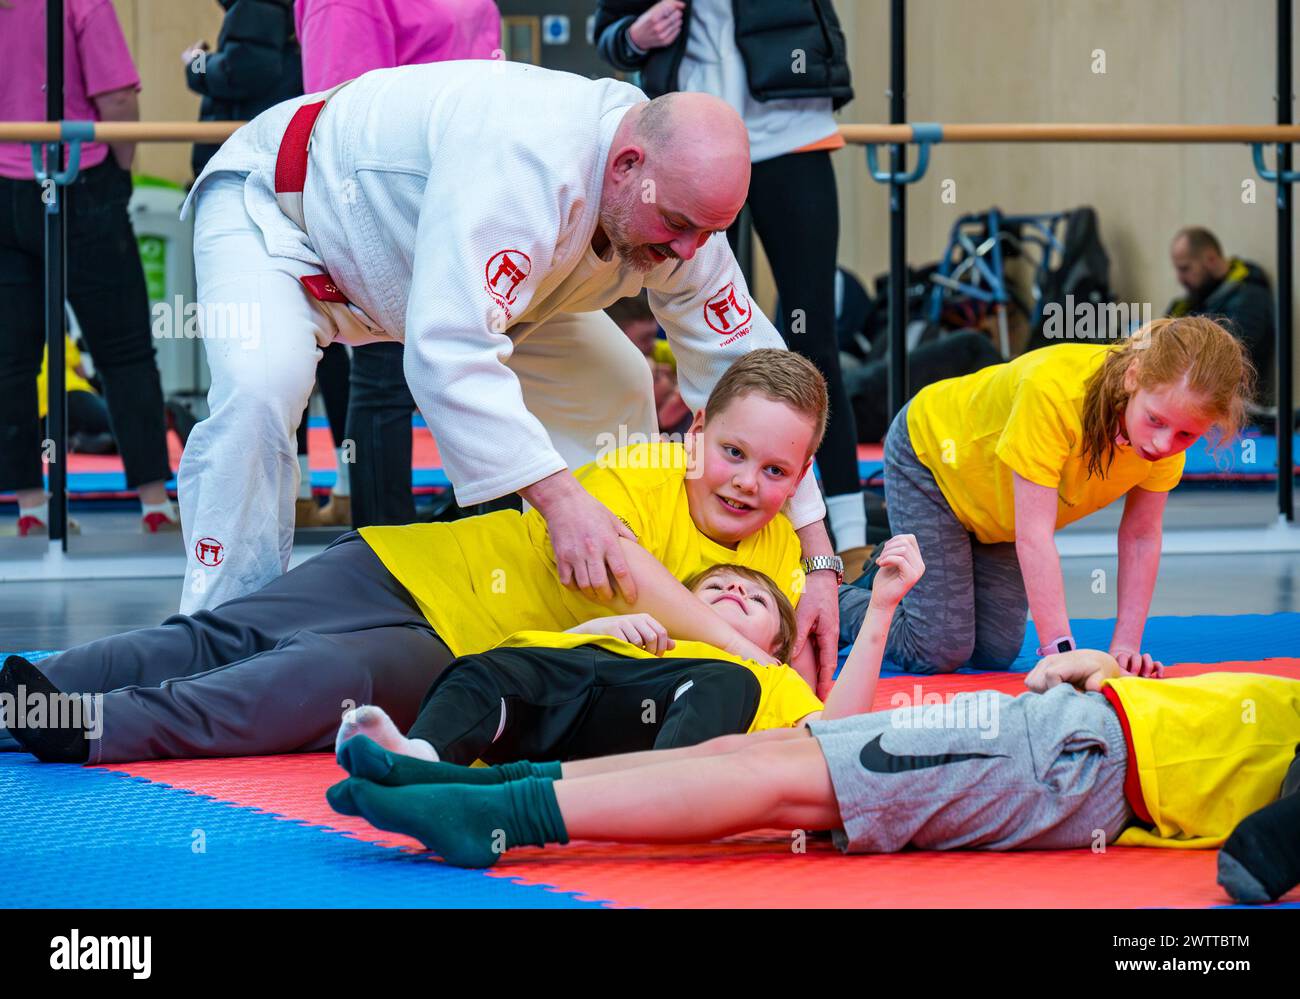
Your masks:
<path fill-rule="evenodd" d="M 138 121 L 140 78 L 110 0 L 66 0 L 64 12 L 64 117 Z M 44 0 L 0 4 L 0 120 L 43 120 Z M 66 189 L 68 298 L 103 379 L 142 529 L 156 533 L 179 524 L 166 494 L 172 470 L 144 272 L 126 213 L 134 157 L 134 143 L 82 146 L 81 170 Z M 0 493 L 18 494 L 20 536 L 49 531 L 36 397 L 44 213 L 30 148 L 0 143 Z"/>

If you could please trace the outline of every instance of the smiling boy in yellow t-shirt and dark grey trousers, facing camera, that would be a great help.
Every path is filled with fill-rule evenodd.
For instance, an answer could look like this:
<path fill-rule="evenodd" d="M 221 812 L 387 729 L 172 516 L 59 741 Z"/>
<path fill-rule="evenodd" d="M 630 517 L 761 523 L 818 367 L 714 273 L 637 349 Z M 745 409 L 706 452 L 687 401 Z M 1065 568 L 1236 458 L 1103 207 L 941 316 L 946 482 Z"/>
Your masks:
<path fill-rule="evenodd" d="M 690 453 L 633 444 L 580 468 L 588 492 L 637 539 L 623 540 L 623 592 L 590 579 L 578 591 L 563 585 L 536 510 L 364 528 L 214 610 L 79 645 L 39 670 L 9 657 L 0 695 L 103 695 L 101 738 L 66 719 L 29 719 L 13 741 L 43 761 L 96 764 L 326 749 L 346 708 L 376 704 L 410 726 L 458 656 L 610 613 L 649 613 L 677 639 L 775 662 L 679 580 L 734 562 L 798 598 L 801 545 L 781 510 L 807 473 L 826 411 L 826 382 L 809 360 L 755 350 L 696 415 Z"/>

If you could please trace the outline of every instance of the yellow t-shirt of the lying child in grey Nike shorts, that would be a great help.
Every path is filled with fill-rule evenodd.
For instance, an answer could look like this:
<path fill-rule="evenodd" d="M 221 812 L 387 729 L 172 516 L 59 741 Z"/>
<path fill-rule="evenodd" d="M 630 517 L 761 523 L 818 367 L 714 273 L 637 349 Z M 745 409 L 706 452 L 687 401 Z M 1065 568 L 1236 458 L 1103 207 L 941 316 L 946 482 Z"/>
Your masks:
<path fill-rule="evenodd" d="M 1218 847 L 1238 822 L 1277 800 L 1300 744 L 1300 680 L 1206 673 L 1105 683 L 1128 717 L 1153 822 L 1126 829 L 1119 846 Z"/>

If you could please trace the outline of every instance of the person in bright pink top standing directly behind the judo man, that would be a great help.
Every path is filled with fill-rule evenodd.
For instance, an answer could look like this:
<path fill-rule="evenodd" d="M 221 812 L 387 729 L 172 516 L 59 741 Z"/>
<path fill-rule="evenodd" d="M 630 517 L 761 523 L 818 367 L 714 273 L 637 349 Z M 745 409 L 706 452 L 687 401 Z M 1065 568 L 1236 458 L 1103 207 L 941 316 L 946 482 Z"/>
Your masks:
<path fill-rule="evenodd" d="M 295 0 L 294 22 L 307 92 L 329 90 L 372 69 L 502 55 L 500 13 L 493 0 L 372 0 L 364 5 Z M 416 406 L 402 350 L 400 343 L 368 343 L 352 353 L 344 436 L 356 444 L 354 527 L 416 519 L 411 493 Z M 338 466 L 342 475 L 342 455 Z"/>

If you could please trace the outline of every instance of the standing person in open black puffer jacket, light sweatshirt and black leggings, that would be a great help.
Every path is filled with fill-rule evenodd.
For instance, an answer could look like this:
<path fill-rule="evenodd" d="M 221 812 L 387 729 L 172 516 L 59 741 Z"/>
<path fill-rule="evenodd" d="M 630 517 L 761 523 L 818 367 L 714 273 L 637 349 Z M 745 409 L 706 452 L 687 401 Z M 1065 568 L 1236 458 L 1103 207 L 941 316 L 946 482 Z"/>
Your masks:
<path fill-rule="evenodd" d="M 853 87 L 831 0 L 601 0 L 595 38 L 607 62 L 640 70 L 649 96 L 714 94 L 745 120 L 748 204 L 784 312 L 774 319 L 829 386 L 818 468 L 845 579 L 857 579 L 868 555 L 867 516 L 835 334 L 840 209 L 831 166 L 831 151 L 844 146 L 832 112 Z M 732 225 L 732 248 L 738 235 Z"/>

